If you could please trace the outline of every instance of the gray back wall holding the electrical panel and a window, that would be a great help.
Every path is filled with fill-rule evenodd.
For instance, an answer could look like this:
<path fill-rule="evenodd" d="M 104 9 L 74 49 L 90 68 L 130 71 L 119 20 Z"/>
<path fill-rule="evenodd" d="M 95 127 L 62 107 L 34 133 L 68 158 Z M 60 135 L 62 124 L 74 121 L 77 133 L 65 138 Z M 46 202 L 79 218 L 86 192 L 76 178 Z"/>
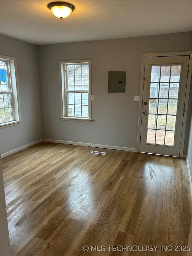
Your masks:
<path fill-rule="evenodd" d="M 142 53 L 191 50 L 191 32 L 38 46 L 43 138 L 137 148 Z M 62 121 L 61 60 L 91 59 L 94 122 Z M 127 71 L 125 94 L 108 93 L 108 71 Z M 186 152 L 185 152 L 186 153 Z"/>

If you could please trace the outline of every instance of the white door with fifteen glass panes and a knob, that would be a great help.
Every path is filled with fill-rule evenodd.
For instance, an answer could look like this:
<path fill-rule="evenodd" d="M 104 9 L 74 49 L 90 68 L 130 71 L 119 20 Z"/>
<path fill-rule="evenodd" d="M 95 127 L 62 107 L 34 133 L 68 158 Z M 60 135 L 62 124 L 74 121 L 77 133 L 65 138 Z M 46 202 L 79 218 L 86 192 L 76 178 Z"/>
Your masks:
<path fill-rule="evenodd" d="M 179 156 L 189 56 L 147 57 L 140 152 Z"/>

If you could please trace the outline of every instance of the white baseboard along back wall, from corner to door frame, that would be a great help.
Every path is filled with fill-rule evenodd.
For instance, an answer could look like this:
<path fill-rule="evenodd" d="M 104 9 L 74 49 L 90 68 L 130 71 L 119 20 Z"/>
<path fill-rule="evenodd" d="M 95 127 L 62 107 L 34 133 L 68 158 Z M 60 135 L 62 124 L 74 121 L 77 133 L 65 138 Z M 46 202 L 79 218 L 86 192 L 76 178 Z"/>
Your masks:
<path fill-rule="evenodd" d="M 102 149 L 116 149 L 116 150 L 137 152 L 137 149 L 133 149 L 133 148 L 109 146 L 109 145 L 100 145 L 100 144 L 92 144 L 92 143 L 84 143 L 84 142 L 76 142 L 76 141 L 49 140 L 49 139 L 43 139 L 43 141 L 52 142 L 52 143 L 71 144 L 71 145 L 78 145 L 78 146 L 88 146 L 88 147 L 102 148 Z"/>

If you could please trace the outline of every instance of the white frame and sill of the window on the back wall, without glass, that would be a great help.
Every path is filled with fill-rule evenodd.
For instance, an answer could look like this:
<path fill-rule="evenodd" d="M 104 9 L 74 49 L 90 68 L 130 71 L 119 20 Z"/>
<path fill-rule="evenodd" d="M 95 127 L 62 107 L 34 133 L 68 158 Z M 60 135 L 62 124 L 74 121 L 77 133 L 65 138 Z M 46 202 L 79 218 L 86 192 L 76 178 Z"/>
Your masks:
<path fill-rule="evenodd" d="M 89 66 L 89 88 L 88 88 L 88 118 L 86 117 L 70 117 L 67 116 L 67 76 L 66 76 L 66 66 L 75 65 L 78 63 L 88 63 Z M 73 60 L 73 61 L 59 61 L 59 80 L 60 80 L 60 100 L 61 100 L 61 120 L 67 121 L 79 121 L 79 122 L 92 122 L 91 119 L 91 60 Z M 74 90 L 75 91 L 75 90 Z M 73 91 L 73 92 L 74 92 Z M 76 92 L 83 92 L 83 91 L 76 91 Z M 87 91 L 85 91 L 87 93 Z"/>

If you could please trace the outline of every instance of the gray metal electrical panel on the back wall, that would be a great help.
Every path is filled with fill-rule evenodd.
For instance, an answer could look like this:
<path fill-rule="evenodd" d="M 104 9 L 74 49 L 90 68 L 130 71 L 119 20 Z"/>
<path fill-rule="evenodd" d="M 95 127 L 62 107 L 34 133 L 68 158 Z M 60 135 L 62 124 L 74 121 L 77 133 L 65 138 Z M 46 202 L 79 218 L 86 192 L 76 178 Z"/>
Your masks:
<path fill-rule="evenodd" d="M 126 71 L 109 71 L 108 92 L 125 93 Z"/>

